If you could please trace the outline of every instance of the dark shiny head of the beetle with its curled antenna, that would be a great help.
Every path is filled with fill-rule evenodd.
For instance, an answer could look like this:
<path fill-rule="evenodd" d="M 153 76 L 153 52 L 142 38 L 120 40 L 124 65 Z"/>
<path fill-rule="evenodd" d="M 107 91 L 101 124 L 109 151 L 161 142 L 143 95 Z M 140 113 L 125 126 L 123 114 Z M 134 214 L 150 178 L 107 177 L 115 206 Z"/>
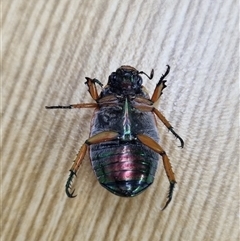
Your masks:
<path fill-rule="evenodd" d="M 117 94 L 138 94 L 142 90 L 142 77 L 140 74 L 145 74 L 144 72 L 139 72 L 135 68 L 123 65 L 113 72 L 108 78 L 108 85 L 112 92 Z M 148 76 L 147 74 L 145 74 Z M 152 78 L 153 72 L 149 78 Z"/>

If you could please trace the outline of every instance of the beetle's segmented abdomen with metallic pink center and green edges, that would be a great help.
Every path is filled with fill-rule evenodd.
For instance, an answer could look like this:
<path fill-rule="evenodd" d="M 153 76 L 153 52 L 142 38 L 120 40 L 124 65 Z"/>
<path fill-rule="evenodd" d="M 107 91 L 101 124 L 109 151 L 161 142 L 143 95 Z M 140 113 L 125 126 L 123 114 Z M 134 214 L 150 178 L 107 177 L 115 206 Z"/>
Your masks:
<path fill-rule="evenodd" d="M 98 181 L 110 192 L 136 196 L 153 183 L 159 156 L 141 143 L 103 143 L 90 147 Z"/>

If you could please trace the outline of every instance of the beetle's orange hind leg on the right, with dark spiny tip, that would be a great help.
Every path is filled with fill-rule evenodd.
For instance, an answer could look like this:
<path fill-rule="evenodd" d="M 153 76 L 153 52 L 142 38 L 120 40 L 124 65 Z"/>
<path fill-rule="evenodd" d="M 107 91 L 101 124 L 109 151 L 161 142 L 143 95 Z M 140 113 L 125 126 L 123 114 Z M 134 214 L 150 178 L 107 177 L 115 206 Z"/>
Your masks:
<path fill-rule="evenodd" d="M 162 156 L 164 169 L 166 171 L 168 180 L 170 182 L 167 202 L 166 202 L 166 204 L 164 205 L 164 207 L 162 209 L 162 210 L 164 210 L 168 206 L 168 204 L 171 202 L 171 200 L 172 200 L 173 188 L 174 188 L 175 183 L 177 183 L 176 180 L 175 180 L 174 172 L 173 172 L 172 167 L 171 167 L 171 163 L 169 161 L 169 158 L 168 158 L 166 152 L 151 137 L 143 135 L 143 134 L 138 134 L 137 138 L 144 145 L 146 145 L 147 147 L 151 148 L 153 151 L 157 152 L 158 154 L 160 154 Z"/>

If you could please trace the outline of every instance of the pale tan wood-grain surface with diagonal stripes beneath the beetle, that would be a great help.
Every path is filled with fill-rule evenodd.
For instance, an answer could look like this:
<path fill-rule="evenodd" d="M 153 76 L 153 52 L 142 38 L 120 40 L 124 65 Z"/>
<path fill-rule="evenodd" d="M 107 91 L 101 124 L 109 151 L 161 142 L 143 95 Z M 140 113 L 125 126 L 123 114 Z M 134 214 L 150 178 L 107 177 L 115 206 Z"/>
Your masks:
<path fill-rule="evenodd" d="M 3 241 L 239 240 L 238 3 L 82 0 L 2 3 Z M 168 181 L 124 199 L 97 182 L 86 157 L 75 199 L 64 185 L 88 138 L 92 110 L 46 110 L 90 102 L 85 76 L 106 84 L 127 64 L 150 73 L 152 93 L 171 66 L 157 107 L 185 141 L 159 123 L 177 187 Z"/>

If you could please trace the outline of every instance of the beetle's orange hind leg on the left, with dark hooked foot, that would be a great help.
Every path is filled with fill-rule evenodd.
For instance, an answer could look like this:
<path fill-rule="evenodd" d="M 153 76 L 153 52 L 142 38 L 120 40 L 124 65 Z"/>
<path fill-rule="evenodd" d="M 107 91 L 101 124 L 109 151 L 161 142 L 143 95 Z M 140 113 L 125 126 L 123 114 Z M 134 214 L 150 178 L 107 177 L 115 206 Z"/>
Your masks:
<path fill-rule="evenodd" d="M 65 185 L 65 192 L 67 194 L 68 197 L 70 198 L 73 198 L 73 197 L 76 197 L 76 195 L 73 195 L 74 191 L 73 190 L 71 192 L 71 189 L 72 189 L 72 183 L 73 183 L 73 178 L 74 176 L 76 176 L 76 173 L 82 163 L 82 160 L 83 158 L 85 157 L 86 155 L 86 152 L 87 152 L 87 148 L 89 145 L 92 145 L 92 144 L 98 144 L 98 143 L 101 143 L 101 142 L 104 142 L 104 141 L 111 141 L 111 140 L 114 140 L 116 138 L 118 138 L 119 134 L 117 132 L 114 132 L 114 131 L 103 131 L 103 132 L 100 132 L 92 137 L 90 137 L 89 139 L 87 139 L 85 141 L 85 143 L 82 145 L 82 147 L 80 148 L 73 164 L 72 164 L 72 167 L 70 169 L 70 175 L 67 179 L 67 182 L 66 182 L 66 185 Z"/>

